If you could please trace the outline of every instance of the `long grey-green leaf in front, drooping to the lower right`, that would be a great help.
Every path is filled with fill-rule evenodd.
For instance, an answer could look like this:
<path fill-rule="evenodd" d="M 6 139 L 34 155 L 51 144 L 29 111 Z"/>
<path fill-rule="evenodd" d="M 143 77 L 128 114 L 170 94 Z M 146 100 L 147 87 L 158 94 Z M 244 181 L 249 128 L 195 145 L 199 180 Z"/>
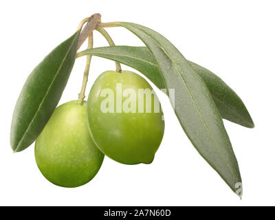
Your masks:
<path fill-rule="evenodd" d="M 237 192 L 239 166 L 208 87 L 190 63 L 161 34 L 135 23 L 116 23 L 138 36 L 153 54 L 168 89 L 175 89 L 175 114 L 199 154 Z M 172 97 L 169 97 L 173 102 Z"/>

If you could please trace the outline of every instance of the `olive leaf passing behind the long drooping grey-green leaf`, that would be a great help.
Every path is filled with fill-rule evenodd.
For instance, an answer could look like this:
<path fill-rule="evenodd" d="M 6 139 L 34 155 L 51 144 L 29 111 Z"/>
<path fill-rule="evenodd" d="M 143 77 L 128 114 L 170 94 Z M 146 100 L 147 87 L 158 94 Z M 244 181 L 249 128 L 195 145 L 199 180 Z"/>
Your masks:
<path fill-rule="evenodd" d="M 159 89 L 166 89 L 155 58 L 147 47 L 97 47 L 80 52 L 80 54 L 100 56 L 133 67 L 144 74 Z M 204 83 L 206 83 L 222 118 L 248 128 L 253 128 L 253 120 L 241 98 L 219 76 L 196 63 L 188 62 L 203 79 Z"/>

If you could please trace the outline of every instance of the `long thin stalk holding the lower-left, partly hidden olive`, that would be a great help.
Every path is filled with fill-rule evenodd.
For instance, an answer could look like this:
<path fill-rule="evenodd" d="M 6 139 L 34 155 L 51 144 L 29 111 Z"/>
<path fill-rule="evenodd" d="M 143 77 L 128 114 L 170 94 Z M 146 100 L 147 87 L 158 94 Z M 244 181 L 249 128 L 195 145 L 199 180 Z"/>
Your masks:
<path fill-rule="evenodd" d="M 91 32 L 88 39 L 88 47 L 87 47 L 88 50 L 93 48 L 93 44 L 94 44 L 93 39 L 94 39 L 93 32 Z M 85 98 L 85 90 L 88 82 L 90 65 L 91 65 L 91 55 L 87 55 L 86 67 L 83 75 L 83 83 L 82 83 L 80 94 L 78 94 L 78 104 L 83 104 L 83 100 Z"/>

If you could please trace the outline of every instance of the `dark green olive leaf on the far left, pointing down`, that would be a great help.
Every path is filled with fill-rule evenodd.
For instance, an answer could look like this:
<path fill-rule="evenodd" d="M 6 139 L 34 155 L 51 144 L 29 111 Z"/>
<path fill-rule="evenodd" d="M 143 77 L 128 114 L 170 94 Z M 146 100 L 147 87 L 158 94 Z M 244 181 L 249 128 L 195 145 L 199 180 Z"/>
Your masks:
<path fill-rule="evenodd" d="M 74 66 L 80 30 L 58 45 L 28 76 L 17 100 L 10 129 L 14 152 L 23 151 L 50 119 Z"/>

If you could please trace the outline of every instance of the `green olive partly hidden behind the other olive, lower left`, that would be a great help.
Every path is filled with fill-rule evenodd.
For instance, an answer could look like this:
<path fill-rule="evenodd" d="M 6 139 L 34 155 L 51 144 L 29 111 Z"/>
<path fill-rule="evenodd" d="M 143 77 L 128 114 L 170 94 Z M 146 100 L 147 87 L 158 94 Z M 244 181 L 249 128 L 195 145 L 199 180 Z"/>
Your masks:
<path fill-rule="evenodd" d="M 94 178 L 104 159 L 89 134 L 87 103 L 67 102 L 54 110 L 35 143 L 41 173 L 53 184 L 77 187 Z"/>

